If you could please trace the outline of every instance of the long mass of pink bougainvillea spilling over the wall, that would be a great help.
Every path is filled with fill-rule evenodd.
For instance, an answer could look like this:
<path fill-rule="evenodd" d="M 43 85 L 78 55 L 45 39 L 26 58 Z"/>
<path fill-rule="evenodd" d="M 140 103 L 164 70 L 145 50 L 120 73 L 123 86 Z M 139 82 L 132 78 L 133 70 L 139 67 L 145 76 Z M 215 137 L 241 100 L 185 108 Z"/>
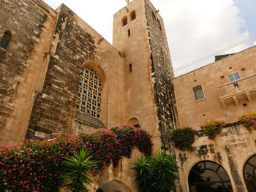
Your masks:
<path fill-rule="evenodd" d="M 127 129 L 127 126 L 119 129 Z M 125 149 L 137 146 L 145 155 L 151 154 L 151 137 L 141 128 L 134 131 L 134 142 L 126 142 Z M 124 134 L 123 137 L 126 137 Z M 129 137 L 130 138 L 130 137 Z M 80 136 L 61 135 L 49 141 L 27 141 L 20 146 L 0 147 L 0 191 L 58 191 L 62 184 L 64 157 L 74 155 L 85 146 L 94 161 L 99 161 L 95 173 L 113 163 L 117 166 L 124 150 L 124 141 L 116 131 L 100 129 Z M 121 143 L 122 141 L 122 143 Z M 127 153 L 128 154 L 128 153 Z"/>

